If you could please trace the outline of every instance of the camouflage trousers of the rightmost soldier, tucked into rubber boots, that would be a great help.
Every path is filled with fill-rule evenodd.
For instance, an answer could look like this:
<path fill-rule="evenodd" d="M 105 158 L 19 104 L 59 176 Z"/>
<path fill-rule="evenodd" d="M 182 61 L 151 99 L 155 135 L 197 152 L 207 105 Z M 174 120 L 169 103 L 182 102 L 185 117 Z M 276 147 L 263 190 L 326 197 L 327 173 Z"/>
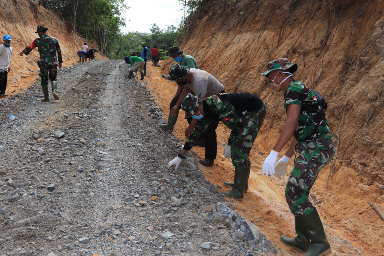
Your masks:
<path fill-rule="evenodd" d="M 308 200 L 310 190 L 320 170 L 331 162 L 336 146 L 331 136 L 322 136 L 296 146 L 299 156 L 285 187 L 285 199 L 295 216 L 313 211 Z"/>

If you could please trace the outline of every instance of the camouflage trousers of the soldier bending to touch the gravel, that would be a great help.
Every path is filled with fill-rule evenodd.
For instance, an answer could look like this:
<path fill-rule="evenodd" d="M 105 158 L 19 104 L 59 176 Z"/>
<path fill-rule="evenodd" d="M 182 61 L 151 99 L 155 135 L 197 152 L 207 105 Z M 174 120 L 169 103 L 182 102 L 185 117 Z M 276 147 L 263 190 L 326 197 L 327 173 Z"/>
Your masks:
<path fill-rule="evenodd" d="M 256 111 L 247 112 L 242 117 L 243 127 L 231 144 L 231 158 L 233 166 L 250 167 L 248 159 L 253 141 L 263 124 L 266 115 L 266 106 L 263 106 Z"/>

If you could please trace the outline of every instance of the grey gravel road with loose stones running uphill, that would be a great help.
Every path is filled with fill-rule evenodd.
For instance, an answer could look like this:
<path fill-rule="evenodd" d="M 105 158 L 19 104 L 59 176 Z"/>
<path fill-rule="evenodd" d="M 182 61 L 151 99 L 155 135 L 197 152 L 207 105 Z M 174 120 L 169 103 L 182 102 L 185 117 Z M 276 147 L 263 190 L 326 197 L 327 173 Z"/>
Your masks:
<path fill-rule="evenodd" d="M 122 60 L 0 100 L 0 255 L 277 255 L 181 149 Z M 50 91 L 50 90 L 49 90 Z M 14 115 L 10 120 L 8 115 Z"/>

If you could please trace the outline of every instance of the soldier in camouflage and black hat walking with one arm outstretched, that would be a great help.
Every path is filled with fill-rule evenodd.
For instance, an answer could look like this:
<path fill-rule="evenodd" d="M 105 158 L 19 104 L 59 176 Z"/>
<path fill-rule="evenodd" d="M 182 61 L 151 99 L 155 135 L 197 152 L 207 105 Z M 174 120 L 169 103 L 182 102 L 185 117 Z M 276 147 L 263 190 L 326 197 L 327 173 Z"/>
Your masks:
<path fill-rule="evenodd" d="M 35 47 L 38 48 L 40 53 L 40 61 L 37 62 L 37 65 L 40 68 L 39 76 L 41 78 L 41 88 L 43 89 L 44 93 L 44 98 L 42 98 L 41 101 L 43 102 L 49 102 L 48 78 L 51 80 L 53 97 L 55 100 L 60 99 L 59 95 L 57 94 L 56 68 L 57 66 L 61 68 L 61 63 L 63 63 L 59 41 L 55 37 L 48 36 L 46 33 L 47 30 L 48 28 L 45 28 L 44 26 L 38 26 L 35 33 L 38 33 L 39 38 L 35 38 L 35 40 L 33 40 L 29 46 L 27 46 L 22 52 L 19 53 L 20 56 L 23 56 L 24 53 L 25 55 L 28 55 Z"/>

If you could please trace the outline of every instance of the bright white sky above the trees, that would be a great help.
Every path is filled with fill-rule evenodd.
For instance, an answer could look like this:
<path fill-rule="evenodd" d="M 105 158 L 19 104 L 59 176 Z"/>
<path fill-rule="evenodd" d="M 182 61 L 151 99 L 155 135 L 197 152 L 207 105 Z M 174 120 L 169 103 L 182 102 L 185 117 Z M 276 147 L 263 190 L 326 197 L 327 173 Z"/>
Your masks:
<path fill-rule="evenodd" d="M 146 32 L 150 33 L 153 23 L 156 23 L 160 30 L 170 25 L 179 27 L 181 18 L 184 15 L 182 6 L 178 0 L 125 0 L 129 6 L 122 17 L 126 26 L 122 32 Z"/>

